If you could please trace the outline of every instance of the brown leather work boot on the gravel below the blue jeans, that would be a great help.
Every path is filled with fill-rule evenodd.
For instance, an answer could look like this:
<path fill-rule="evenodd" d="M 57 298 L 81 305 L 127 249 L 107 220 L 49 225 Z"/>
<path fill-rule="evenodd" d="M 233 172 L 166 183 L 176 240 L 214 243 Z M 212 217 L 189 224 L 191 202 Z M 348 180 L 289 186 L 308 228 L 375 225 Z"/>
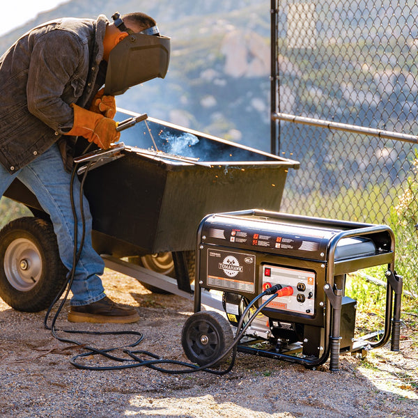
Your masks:
<path fill-rule="evenodd" d="M 128 324 L 139 320 L 138 312 L 131 307 L 123 307 L 113 302 L 109 297 L 82 307 L 70 307 L 68 314 L 70 322 L 117 323 Z"/>

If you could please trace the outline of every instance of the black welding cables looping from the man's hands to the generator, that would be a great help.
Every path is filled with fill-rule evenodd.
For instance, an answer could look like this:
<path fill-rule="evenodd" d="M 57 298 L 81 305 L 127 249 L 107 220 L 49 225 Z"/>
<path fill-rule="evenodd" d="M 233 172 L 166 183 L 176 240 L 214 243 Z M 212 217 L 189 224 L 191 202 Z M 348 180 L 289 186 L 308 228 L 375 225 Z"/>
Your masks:
<path fill-rule="evenodd" d="M 90 145 L 86 148 L 86 150 L 84 150 L 83 154 L 85 154 L 87 152 L 89 147 L 90 147 Z M 160 357 L 158 355 L 155 355 L 154 353 L 150 353 L 149 351 L 146 351 L 146 350 L 128 350 L 127 348 L 134 348 L 134 347 L 138 346 L 138 344 L 144 339 L 144 335 L 141 332 L 137 332 L 137 331 L 95 332 L 95 331 L 86 331 L 86 330 L 57 330 L 56 329 L 56 327 L 55 327 L 56 320 L 59 318 L 59 314 L 61 313 L 61 311 L 63 309 L 63 306 L 64 306 L 66 300 L 68 299 L 68 294 L 70 293 L 70 288 L 71 288 L 72 282 L 73 282 L 74 277 L 75 277 L 75 268 L 76 268 L 77 263 L 79 261 L 79 257 L 81 256 L 83 245 L 84 245 L 84 239 L 85 239 L 85 233 L 86 233 L 86 224 L 85 224 L 84 206 L 83 206 L 83 189 L 84 189 L 84 182 L 86 180 L 86 176 L 87 176 L 90 164 L 91 164 L 91 162 L 88 163 L 88 165 L 86 167 L 86 170 L 84 171 L 82 181 L 80 182 L 80 190 L 79 190 L 79 202 L 80 203 L 79 203 L 79 205 L 80 205 L 80 215 L 82 217 L 82 238 L 80 239 L 78 251 L 77 251 L 77 242 L 78 242 L 77 211 L 75 209 L 75 201 L 74 201 L 74 180 L 75 180 L 75 175 L 77 173 L 78 164 L 75 164 L 75 167 L 72 169 L 71 180 L 70 180 L 70 201 L 71 201 L 72 215 L 74 217 L 74 224 L 75 224 L 75 226 L 74 226 L 74 251 L 73 251 L 73 258 L 72 258 L 72 268 L 71 268 L 71 270 L 68 274 L 68 281 L 65 283 L 63 288 L 61 288 L 61 291 L 55 297 L 54 302 L 52 302 L 49 309 L 47 309 L 47 313 L 45 314 L 45 319 L 44 319 L 45 328 L 47 330 L 50 330 L 52 332 L 52 336 L 54 336 L 54 338 L 57 339 L 58 341 L 65 342 L 65 343 L 72 343 L 72 344 L 75 344 L 76 346 L 80 346 L 80 347 L 84 348 L 84 350 L 87 350 L 86 353 L 76 355 L 75 357 L 72 357 L 72 359 L 70 359 L 70 363 L 73 366 L 77 367 L 77 369 L 104 371 L 104 370 L 130 369 L 130 368 L 134 368 L 134 367 L 146 366 L 146 367 L 149 367 L 150 369 L 154 369 L 154 370 L 160 371 L 162 373 L 170 373 L 170 374 L 195 373 L 197 371 L 206 371 L 208 373 L 212 373 L 212 374 L 216 374 L 216 375 L 224 375 L 226 373 L 229 373 L 229 371 L 231 371 L 233 369 L 233 365 L 235 364 L 237 346 L 238 346 L 238 343 L 240 342 L 240 340 L 242 339 L 242 336 L 244 336 L 245 331 L 247 330 L 249 325 L 251 325 L 252 321 L 260 313 L 260 311 L 263 310 L 264 307 L 267 304 L 269 304 L 275 297 L 278 296 L 276 292 L 279 291 L 279 289 L 281 288 L 280 285 L 272 286 L 272 288 L 266 289 L 263 293 L 260 293 L 259 295 L 254 297 L 254 299 L 251 300 L 251 302 L 249 302 L 247 308 L 245 309 L 245 311 L 243 312 L 243 314 L 240 318 L 240 321 L 239 321 L 238 326 L 237 326 L 237 331 L 235 333 L 235 338 L 233 339 L 233 342 L 231 343 L 231 345 L 228 348 L 226 348 L 226 350 L 224 350 L 224 353 L 219 355 L 216 359 L 212 360 L 210 363 L 205 364 L 203 366 L 196 366 L 196 364 L 180 362 L 178 360 L 163 359 L 162 357 Z M 66 291 L 65 291 L 65 288 L 66 288 Z M 63 297 L 63 300 L 61 301 L 61 304 L 59 304 L 59 307 L 56 311 L 56 314 L 54 315 L 54 318 L 52 318 L 51 325 L 48 325 L 49 315 L 51 314 L 51 311 L 52 311 L 54 305 L 56 304 L 56 302 L 58 302 L 59 298 L 64 293 L 64 291 L 65 291 L 65 295 Z M 272 296 L 269 297 L 268 300 L 263 302 L 263 304 L 261 304 L 261 306 L 258 307 L 258 309 L 256 309 L 256 311 L 254 311 L 254 314 L 252 314 L 249 317 L 249 320 L 247 321 L 247 323 L 243 327 L 242 325 L 244 324 L 244 320 L 245 320 L 249 310 L 251 309 L 251 307 L 253 307 L 254 304 L 259 299 L 261 299 L 261 297 L 263 297 L 265 295 L 272 295 Z M 62 336 L 59 336 L 57 334 L 57 331 L 65 332 L 67 334 L 133 335 L 133 336 L 136 336 L 137 339 L 133 343 L 127 344 L 125 346 L 118 346 L 118 347 L 106 348 L 106 349 L 98 349 L 98 348 L 94 348 L 94 347 L 91 347 L 91 346 L 86 346 L 85 343 L 82 343 L 80 341 L 76 341 L 74 339 L 63 338 Z M 114 352 L 114 350 L 121 350 L 121 349 L 124 349 L 123 353 L 125 353 L 129 357 L 118 357 L 116 355 L 111 354 L 112 352 Z M 222 359 L 224 359 L 226 356 L 230 355 L 231 351 L 232 351 L 231 362 L 230 362 L 227 369 L 221 370 L 221 371 L 210 369 L 210 367 L 215 366 L 215 364 L 217 364 L 218 362 L 221 362 Z M 77 362 L 78 359 L 81 359 L 83 357 L 92 356 L 92 355 L 101 355 L 103 357 L 106 357 L 107 359 L 111 359 L 115 362 L 119 362 L 119 363 L 123 363 L 123 364 L 118 365 L 118 366 L 116 366 L 116 365 L 114 365 L 114 366 L 87 366 L 85 364 Z M 141 357 L 139 357 L 139 355 L 150 357 L 150 359 L 141 358 Z M 174 370 L 173 369 L 164 369 L 163 367 L 159 366 L 160 364 L 175 364 L 177 366 L 183 366 L 184 369 L 174 369 Z"/>

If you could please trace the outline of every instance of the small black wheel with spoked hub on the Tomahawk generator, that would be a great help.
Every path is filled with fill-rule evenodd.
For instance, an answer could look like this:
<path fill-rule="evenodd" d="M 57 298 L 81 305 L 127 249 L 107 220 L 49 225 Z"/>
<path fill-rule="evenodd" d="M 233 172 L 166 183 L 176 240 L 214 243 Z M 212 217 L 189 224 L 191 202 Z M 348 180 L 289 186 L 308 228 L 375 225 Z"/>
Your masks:
<path fill-rule="evenodd" d="M 181 343 L 187 358 L 204 366 L 225 353 L 233 343 L 233 333 L 229 322 L 221 314 L 196 312 L 183 325 Z M 222 364 L 228 357 L 217 364 Z"/>

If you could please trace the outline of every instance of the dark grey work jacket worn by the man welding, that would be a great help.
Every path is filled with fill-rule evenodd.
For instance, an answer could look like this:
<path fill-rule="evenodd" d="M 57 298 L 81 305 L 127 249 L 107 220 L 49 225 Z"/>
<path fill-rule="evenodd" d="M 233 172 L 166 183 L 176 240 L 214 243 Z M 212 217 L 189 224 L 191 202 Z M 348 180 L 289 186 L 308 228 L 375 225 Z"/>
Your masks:
<path fill-rule="evenodd" d="M 104 80 L 108 22 L 104 15 L 47 22 L 0 57 L 0 163 L 10 173 L 70 130 L 71 103 L 88 107 Z"/>

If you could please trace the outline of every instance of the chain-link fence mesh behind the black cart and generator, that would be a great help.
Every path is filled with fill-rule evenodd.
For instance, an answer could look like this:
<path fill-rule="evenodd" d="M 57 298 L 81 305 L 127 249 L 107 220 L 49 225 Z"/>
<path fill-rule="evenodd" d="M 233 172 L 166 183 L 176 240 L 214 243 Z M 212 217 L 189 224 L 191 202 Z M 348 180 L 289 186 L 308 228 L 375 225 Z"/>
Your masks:
<path fill-rule="evenodd" d="M 272 110 L 418 135 L 417 16 L 416 1 L 272 1 Z M 288 173 L 286 212 L 389 223 L 415 193 L 414 140 L 288 121 L 277 121 L 275 140 L 301 162 Z"/>

